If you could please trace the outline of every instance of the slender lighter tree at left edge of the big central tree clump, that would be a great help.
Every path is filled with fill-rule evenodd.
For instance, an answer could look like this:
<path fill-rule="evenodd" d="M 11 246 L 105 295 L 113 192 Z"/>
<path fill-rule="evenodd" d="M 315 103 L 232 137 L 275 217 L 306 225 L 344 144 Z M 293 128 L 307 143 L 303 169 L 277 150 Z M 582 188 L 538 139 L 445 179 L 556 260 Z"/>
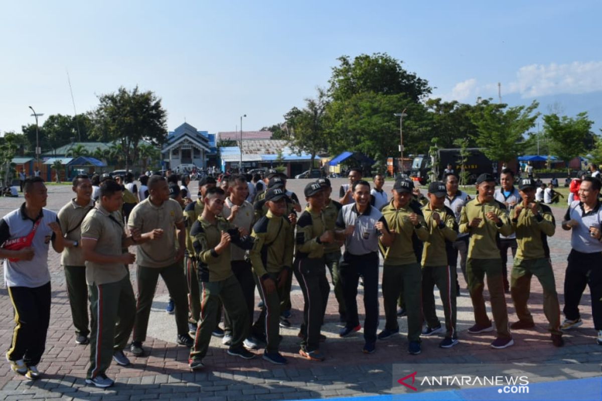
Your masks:
<path fill-rule="evenodd" d="M 315 99 L 306 98 L 305 108 L 291 109 L 285 115 L 286 124 L 291 135 L 291 147 L 299 153 L 307 152 L 311 155 L 311 168 L 314 167 L 315 155 L 327 149 L 328 141 L 324 128 L 324 113 L 326 112 L 326 91 L 318 88 Z"/>

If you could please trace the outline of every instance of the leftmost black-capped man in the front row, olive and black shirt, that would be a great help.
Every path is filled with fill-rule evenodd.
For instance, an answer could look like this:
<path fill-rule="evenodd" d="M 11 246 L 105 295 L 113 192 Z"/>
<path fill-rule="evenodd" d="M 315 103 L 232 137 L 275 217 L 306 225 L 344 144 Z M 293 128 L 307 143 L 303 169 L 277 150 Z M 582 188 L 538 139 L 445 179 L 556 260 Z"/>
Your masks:
<path fill-rule="evenodd" d="M 264 309 L 255 326 L 264 326 L 267 346 L 264 360 L 285 364 L 287 360 L 278 352 L 280 302 L 284 297 L 287 276 L 293 266 L 293 225 L 285 217 L 287 195 L 281 188 L 270 188 L 265 193 L 268 211 L 253 225 L 255 238 L 249 257 Z"/>

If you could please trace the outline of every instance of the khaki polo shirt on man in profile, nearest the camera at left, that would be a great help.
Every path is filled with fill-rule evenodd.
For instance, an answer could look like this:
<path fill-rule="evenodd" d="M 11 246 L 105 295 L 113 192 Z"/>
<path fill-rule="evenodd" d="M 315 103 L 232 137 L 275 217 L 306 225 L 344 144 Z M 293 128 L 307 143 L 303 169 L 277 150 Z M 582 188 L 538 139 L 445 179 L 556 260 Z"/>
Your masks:
<path fill-rule="evenodd" d="M 81 224 L 82 239 L 96 240 L 94 250 L 97 253 L 119 256 L 122 252 L 122 220 L 119 213 L 109 213 L 100 204 L 85 216 Z M 96 263 L 85 261 L 85 281 L 88 286 L 116 283 L 128 275 L 123 263 Z"/>

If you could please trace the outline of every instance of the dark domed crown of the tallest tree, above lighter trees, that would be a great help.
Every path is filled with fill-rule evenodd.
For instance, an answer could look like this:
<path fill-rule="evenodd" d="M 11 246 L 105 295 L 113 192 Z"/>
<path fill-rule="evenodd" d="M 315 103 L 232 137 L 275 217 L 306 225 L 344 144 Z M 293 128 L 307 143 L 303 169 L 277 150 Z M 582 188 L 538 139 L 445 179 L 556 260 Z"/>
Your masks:
<path fill-rule="evenodd" d="M 349 56 L 341 56 L 337 60 L 340 64 L 332 67 L 328 81 L 329 96 L 335 101 L 373 92 L 385 95 L 405 93 L 412 102 L 419 102 L 432 91 L 426 79 L 407 72 L 402 61 L 386 53 L 361 54 L 353 61 Z"/>

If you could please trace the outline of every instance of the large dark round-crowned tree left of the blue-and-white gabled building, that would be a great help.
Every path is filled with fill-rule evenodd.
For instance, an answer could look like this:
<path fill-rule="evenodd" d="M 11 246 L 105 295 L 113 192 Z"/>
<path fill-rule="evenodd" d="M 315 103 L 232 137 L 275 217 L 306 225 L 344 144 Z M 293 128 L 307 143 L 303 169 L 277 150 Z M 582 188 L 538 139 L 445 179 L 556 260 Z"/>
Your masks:
<path fill-rule="evenodd" d="M 98 99 L 100 104 L 91 114 L 92 136 L 119 142 L 126 170 L 138 158 L 141 139 L 155 146 L 167 140 L 167 113 L 152 91 L 120 87 L 116 93 L 103 94 Z"/>

